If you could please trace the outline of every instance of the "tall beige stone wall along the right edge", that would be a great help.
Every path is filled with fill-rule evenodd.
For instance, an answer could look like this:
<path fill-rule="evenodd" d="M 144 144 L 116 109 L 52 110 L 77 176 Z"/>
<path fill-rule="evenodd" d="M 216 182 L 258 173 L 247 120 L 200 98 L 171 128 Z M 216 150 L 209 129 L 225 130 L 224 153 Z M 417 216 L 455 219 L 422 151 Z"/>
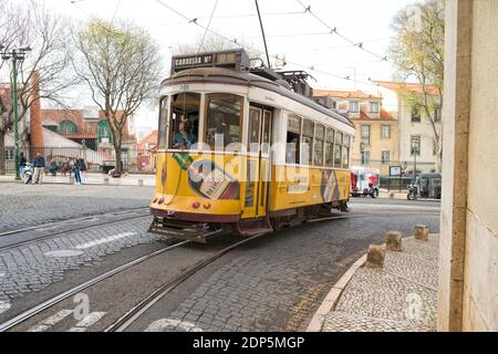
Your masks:
<path fill-rule="evenodd" d="M 446 1 L 439 331 L 498 331 L 498 2 Z"/>

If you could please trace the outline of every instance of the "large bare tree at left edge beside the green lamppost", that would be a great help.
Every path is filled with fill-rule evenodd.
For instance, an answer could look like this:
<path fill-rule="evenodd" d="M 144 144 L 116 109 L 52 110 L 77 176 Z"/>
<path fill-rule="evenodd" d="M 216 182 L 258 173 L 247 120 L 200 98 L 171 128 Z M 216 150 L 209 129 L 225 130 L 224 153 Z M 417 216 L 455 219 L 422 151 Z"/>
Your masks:
<path fill-rule="evenodd" d="M 74 84 L 69 71 L 71 41 L 68 21 L 49 11 L 44 4 L 29 1 L 24 6 L 0 0 L 0 41 L 6 49 L 29 45 L 32 50 L 18 65 L 18 107 L 19 121 L 23 119 L 39 100 L 49 100 L 60 104 L 64 102 L 66 90 Z M 9 63 L 9 65 L 7 65 Z M 3 62 L 0 69 L 10 69 L 10 62 Z M 35 82 L 38 76 L 38 83 Z M 0 150 L 4 150 L 4 137 L 13 125 L 13 105 L 0 115 Z M 27 139 L 27 132 L 20 132 Z M 0 174 L 4 174 L 4 158 L 0 154 Z"/>

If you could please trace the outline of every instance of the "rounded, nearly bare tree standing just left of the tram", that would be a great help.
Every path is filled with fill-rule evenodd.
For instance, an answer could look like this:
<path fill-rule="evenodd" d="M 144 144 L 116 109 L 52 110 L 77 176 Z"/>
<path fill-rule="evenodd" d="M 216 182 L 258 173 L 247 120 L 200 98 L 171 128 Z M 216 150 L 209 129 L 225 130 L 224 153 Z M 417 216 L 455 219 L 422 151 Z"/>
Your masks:
<path fill-rule="evenodd" d="M 154 95 L 160 82 L 159 49 L 141 28 L 101 20 L 93 20 L 76 31 L 74 42 L 79 52 L 74 69 L 87 83 L 92 100 L 110 125 L 116 173 L 121 175 L 126 122 Z"/>

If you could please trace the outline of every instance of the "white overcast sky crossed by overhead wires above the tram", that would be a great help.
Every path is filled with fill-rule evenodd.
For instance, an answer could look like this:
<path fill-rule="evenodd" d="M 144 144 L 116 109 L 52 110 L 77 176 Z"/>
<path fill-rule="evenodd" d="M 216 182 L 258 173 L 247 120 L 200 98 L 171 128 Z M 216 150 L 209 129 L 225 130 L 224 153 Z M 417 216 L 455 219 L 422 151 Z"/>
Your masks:
<path fill-rule="evenodd" d="M 72 3 L 74 2 L 74 3 Z M 160 0 L 188 19 L 197 19 L 207 25 L 215 8 L 210 30 L 263 51 L 259 21 L 253 0 Z M 413 0 L 300 0 L 311 6 L 329 28 L 378 56 L 384 56 L 393 35 L 391 21 L 396 12 Z M 307 70 L 317 82 L 317 88 L 364 90 L 375 93 L 372 80 L 391 80 L 392 65 L 331 34 L 330 29 L 310 13 L 297 0 L 259 0 L 270 55 L 286 55 L 287 70 Z M 147 28 L 160 44 L 165 72 L 169 70 L 172 51 L 181 43 L 191 43 L 204 34 L 204 29 L 189 23 L 157 0 L 49 0 L 46 3 L 68 17 L 86 20 L 127 19 Z M 292 63 L 292 64 L 291 64 Z M 307 67 L 314 66 L 318 71 Z M 356 75 L 346 81 L 339 77 Z M 339 76 L 339 77 L 338 77 Z M 142 113 L 138 125 L 154 126 L 156 117 Z"/>

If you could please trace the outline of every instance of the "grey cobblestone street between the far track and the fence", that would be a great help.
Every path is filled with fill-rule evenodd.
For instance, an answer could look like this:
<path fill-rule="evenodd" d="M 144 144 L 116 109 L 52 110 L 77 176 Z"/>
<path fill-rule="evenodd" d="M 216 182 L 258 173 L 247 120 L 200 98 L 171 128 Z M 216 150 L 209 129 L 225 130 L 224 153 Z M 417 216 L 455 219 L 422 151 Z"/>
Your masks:
<path fill-rule="evenodd" d="M 146 208 L 152 187 L 0 183 L 0 232 L 50 221 Z"/>

